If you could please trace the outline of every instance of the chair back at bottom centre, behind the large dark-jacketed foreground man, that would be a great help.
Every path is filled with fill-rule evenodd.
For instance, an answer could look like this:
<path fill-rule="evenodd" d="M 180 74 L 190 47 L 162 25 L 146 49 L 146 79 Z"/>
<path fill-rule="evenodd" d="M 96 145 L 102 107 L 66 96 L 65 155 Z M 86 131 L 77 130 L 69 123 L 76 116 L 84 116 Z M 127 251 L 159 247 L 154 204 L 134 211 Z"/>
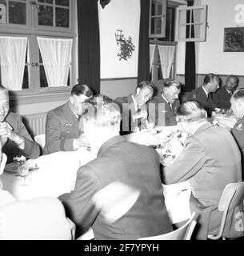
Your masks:
<path fill-rule="evenodd" d="M 190 219 L 185 225 L 181 226 L 177 230 L 166 234 L 159 234 L 154 237 L 139 238 L 138 240 L 190 240 L 194 227 L 197 224 L 197 222 L 194 220 L 194 215 L 195 213 L 191 215 Z"/>

